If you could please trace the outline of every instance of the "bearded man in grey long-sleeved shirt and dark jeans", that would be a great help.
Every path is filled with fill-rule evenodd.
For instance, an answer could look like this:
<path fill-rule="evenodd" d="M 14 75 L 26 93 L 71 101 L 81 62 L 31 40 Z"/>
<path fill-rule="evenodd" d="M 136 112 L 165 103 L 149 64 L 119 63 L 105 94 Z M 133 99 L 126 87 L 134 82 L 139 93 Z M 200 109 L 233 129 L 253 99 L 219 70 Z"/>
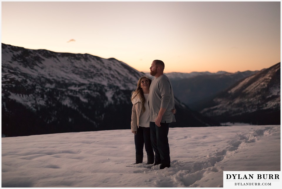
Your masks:
<path fill-rule="evenodd" d="M 172 86 L 164 75 L 164 62 L 154 60 L 150 67 L 150 74 L 155 76 L 150 85 L 148 98 L 150 109 L 150 135 L 155 152 L 155 164 L 160 169 L 170 167 L 168 130 L 171 122 L 175 122 L 172 109 L 174 109 L 174 94 Z"/>

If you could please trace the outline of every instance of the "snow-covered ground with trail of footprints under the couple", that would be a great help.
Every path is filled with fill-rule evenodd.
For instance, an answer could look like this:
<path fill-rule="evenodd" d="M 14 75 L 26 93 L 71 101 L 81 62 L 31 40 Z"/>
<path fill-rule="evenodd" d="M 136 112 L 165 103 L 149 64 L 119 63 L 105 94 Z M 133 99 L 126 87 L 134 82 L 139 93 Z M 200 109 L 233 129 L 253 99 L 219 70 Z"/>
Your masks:
<path fill-rule="evenodd" d="M 2 138 L 2 187 L 223 187 L 223 171 L 280 171 L 280 131 L 170 128 L 162 170 L 133 164 L 130 129 Z"/>

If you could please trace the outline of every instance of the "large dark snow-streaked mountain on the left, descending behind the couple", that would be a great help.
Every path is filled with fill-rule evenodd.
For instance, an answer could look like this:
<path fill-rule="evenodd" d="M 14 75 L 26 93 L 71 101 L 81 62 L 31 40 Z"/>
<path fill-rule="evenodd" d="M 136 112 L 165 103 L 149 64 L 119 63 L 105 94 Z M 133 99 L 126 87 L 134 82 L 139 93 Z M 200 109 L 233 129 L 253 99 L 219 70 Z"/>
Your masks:
<path fill-rule="evenodd" d="M 1 66 L 4 136 L 130 128 L 130 95 L 144 76 L 115 58 L 6 44 Z M 211 125 L 176 108 L 174 126 Z"/>

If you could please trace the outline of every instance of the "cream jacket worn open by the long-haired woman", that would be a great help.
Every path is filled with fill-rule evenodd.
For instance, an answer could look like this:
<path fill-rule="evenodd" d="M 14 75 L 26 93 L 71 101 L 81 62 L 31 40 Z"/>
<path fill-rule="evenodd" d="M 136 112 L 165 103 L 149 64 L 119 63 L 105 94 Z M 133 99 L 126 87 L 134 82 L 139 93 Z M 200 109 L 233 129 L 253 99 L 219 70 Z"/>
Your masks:
<path fill-rule="evenodd" d="M 139 127 L 139 118 L 142 110 L 142 103 L 139 96 L 132 95 L 132 113 L 131 113 L 131 132 L 137 131 L 137 127 Z"/>

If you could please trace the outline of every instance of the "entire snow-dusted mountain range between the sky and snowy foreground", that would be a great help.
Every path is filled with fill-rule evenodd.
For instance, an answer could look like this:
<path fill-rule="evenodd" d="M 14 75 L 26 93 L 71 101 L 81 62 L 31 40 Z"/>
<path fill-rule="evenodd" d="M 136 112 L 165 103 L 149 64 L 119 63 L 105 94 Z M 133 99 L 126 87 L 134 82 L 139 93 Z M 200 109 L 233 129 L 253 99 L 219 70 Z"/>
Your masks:
<path fill-rule="evenodd" d="M 129 129 L 139 72 L 115 58 L 2 44 L 2 136 Z M 280 63 L 261 71 L 166 73 L 171 127 L 280 124 Z"/>

